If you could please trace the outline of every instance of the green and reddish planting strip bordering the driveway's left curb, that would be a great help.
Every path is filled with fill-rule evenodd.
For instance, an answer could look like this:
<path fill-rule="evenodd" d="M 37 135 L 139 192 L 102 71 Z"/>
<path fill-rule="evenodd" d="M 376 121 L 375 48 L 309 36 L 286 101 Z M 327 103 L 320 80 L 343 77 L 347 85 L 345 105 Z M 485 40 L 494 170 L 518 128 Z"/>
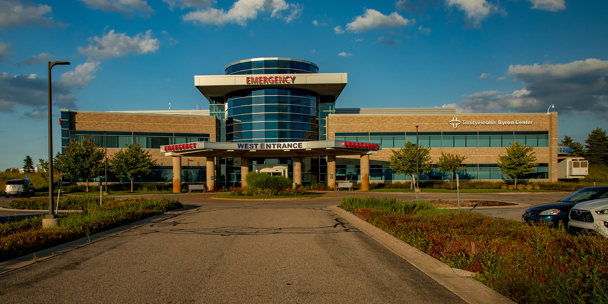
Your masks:
<path fill-rule="evenodd" d="M 181 207 L 182 204 L 178 200 L 167 198 L 108 199 L 102 206 L 96 202 L 80 209 L 83 212 L 59 215 L 58 227 L 43 229 L 42 217 L 2 223 L 0 261 L 21 257 Z"/>

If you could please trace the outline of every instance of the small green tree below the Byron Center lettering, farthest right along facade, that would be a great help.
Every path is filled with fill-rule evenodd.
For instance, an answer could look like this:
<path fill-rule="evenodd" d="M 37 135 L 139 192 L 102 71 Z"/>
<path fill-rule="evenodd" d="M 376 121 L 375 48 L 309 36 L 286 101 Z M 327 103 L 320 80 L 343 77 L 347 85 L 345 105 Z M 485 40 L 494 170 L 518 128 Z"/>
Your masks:
<path fill-rule="evenodd" d="M 532 147 L 520 145 L 517 140 L 511 142 L 511 147 L 506 148 L 506 155 L 498 156 L 498 167 L 502 174 L 513 176 L 515 188 L 517 189 L 517 176 L 522 176 L 534 171 L 536 152 Z"/>

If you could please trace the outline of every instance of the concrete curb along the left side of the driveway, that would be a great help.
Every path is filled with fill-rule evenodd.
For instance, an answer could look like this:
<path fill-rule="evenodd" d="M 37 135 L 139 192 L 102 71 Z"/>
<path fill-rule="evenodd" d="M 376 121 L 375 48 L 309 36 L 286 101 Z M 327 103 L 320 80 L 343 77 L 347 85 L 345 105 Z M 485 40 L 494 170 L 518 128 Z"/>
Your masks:
<path fill-rule="evenodd" d="M 86 246 L 88 244 L 95 243 L 96 241 L 101 241 L 109 237 L 114 237 L 114 235 L 118 235 L 120 233 L 129 231 L 145 224 L 153 223 L 155 221 L 162 221 L 173 216 L 178 216 L 182 212 L 185 212 L 190 209 L 193 209 L 193 207 L 184 206 L 180 209 L 168 211 L 159 215 L 150 216 L 149 218 L 136 221 L 135 223 L 116 227 L 114 229 L 106 230 L 100 233 L 95 233 L 94 235 L 91 235 L 88 238 L 80 238 L 78 240 L 70 241 L 54 247 L 36 251 L 33 254 L 27 254 L 22 257 L 4 261 L 0 263 L 0 275 L 13 271 L 15 269 L 28 266 L 33 263 L 38 263 L 40 261 L 46 260 L 47 258 L 56 257 L 57 255 L 64 254 L 66 252 Z"/>

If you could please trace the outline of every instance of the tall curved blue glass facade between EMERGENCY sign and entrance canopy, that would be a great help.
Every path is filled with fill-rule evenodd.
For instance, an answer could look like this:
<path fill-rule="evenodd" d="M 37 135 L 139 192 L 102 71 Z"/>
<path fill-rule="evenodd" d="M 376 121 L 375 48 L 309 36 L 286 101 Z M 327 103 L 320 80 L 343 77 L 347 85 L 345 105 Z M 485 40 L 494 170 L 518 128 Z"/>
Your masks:
<path fill-rule="evenodd" d="M 264 88 L 226 95 L 227 142 L 319 140 L 319 95 Z"/>

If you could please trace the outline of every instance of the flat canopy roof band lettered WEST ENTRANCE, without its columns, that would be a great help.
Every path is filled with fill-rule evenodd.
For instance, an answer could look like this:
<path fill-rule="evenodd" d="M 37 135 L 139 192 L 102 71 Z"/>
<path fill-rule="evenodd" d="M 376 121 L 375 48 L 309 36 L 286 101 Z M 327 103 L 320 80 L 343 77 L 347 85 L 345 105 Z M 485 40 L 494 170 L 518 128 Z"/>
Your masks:
<path fill-rule="evenodd" d="M 313 142 L 191 142 L 161 146 L 165 156 L 292 157 L 376 154 L 382 145 L 367 142 L 320 140 Z"/>

